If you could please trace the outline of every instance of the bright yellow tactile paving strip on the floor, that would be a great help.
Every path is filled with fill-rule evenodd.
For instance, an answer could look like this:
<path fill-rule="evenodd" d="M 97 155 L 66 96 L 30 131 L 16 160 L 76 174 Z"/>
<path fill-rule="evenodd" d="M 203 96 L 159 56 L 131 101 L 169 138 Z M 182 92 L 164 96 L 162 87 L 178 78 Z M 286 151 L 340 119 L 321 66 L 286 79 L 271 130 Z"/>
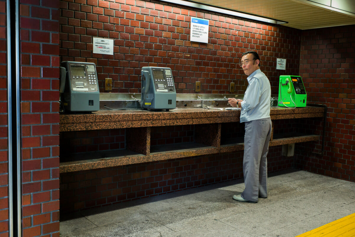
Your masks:
<path fill-rule="evenodd" d="M 296 237 L 354 237 L 355 213 Z"/>

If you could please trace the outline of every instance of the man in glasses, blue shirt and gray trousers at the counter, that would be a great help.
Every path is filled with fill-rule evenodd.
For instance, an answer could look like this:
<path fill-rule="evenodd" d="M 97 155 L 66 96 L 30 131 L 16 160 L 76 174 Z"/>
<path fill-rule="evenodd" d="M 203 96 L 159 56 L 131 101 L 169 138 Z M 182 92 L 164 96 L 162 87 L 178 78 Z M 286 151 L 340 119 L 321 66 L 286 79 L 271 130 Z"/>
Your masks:
<path fill-rule="evenodd" d="M 248 87 L 244 98 L 228 98 L 233 107 L 240 107 L 240 122 L 245 122 L 244 135 L 244 191 L 233 195 L 239 202 L 257 203 L 267 198 L 267 160 L 271 136 L 269 79 L 260 70 L 260 58 L 254 51 L 242 54 L 239 65 L 247 75 Z"/>

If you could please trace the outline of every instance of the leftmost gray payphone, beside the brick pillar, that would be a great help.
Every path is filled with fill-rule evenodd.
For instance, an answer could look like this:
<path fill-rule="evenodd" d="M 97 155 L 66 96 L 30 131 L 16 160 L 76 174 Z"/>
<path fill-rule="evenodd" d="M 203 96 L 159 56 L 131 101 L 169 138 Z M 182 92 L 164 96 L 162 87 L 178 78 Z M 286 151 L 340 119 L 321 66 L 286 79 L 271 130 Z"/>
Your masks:
<path fill-rule="evenodd" d="M 97 73 L 91 62 L 61 62 L 61 103 L 65 111 L 98 111 L 100 92 Z"/>

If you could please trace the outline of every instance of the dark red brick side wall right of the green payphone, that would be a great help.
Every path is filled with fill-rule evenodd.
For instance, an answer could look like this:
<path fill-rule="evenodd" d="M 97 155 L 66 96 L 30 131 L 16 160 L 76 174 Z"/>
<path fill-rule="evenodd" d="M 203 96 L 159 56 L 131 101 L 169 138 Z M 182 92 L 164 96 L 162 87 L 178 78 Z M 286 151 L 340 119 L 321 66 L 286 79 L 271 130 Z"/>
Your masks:
<path fill-rule="evenodd" d="M 300 76 L 308 101 L 328 113 L 324 155 L 307 147 L 297 167 L 355 181 L 355 25 L 302 31 Z"/>

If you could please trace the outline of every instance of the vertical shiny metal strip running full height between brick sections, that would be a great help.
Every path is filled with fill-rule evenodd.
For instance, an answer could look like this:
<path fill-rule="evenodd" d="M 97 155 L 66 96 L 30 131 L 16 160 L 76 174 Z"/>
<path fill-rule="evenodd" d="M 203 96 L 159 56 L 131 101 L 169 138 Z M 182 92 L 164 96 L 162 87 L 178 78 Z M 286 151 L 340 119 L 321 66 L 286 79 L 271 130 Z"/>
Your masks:
<path fill-rule="evenodd" d="M 9 236 L 22 236 L 19 2 L 6 0 Z M 13 31 L 11 31 L 13 29 Z"/>

